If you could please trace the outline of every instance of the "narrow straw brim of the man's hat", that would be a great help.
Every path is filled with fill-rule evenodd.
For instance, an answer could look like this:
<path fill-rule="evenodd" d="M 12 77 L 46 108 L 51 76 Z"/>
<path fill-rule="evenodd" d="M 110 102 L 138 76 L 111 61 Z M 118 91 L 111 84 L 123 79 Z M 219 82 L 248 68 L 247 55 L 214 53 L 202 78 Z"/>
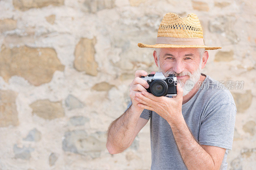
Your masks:
<path fill-rule="evenodd" d="M 155 44 L 155 45 L 148 45 L 143 43 L 138 43 L 140 48 L 205 48 L 205 50 L 216 50 L 220 49 L 221 47 L 218 46 L 203 46 L 203 45 L 176 45 L 176 44 Z"/>

